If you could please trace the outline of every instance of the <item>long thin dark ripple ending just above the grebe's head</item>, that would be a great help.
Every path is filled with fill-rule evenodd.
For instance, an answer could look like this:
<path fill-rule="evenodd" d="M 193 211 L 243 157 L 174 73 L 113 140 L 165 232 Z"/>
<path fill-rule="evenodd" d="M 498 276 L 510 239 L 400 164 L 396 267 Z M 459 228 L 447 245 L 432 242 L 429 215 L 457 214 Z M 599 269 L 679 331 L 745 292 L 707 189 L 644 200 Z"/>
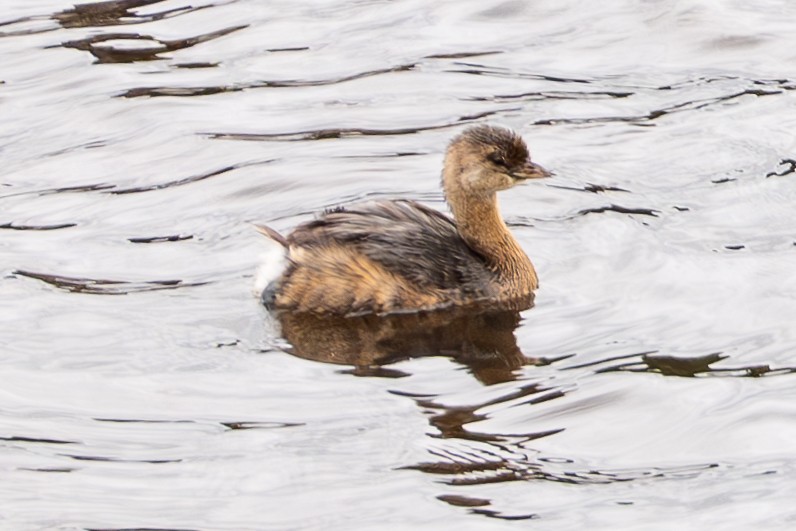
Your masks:
<path fill-rule="evenodd" d="M 330 138 L 349 138 L 359 136 L 395 136 L 413 135 L 422 131 L 434 131 L 459 127 L 463 123 L 471 123 L 481 118 L 518 109 L 500 109 L 485 111 L 478 114 L 462 116 L 457 121 L 436 125 L 419 127 L 401 127 L 395 129 L 368 129 L 368 128 L 330 128 L 296 131 L 292 133 L 204 133 L 210 138 L 220 140 L 245 140 L 245 141 L 296 141 L 296 140 L 325 140 Z"/>

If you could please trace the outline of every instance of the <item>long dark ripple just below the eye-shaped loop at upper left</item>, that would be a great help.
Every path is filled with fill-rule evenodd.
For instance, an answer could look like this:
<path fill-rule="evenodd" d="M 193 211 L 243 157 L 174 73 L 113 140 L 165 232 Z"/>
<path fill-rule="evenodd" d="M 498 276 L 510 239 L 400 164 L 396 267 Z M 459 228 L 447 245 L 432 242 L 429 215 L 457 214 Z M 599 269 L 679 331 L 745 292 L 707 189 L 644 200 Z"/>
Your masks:
<path fill-rule="evenodd" d="M 240 92 L 242 90 L 262 89 L 262 88 L 298 88 L 298 87 L 321 87 L 325 85 L 337 85 L 339 83 L 346 83 L 348 81 L 355 81 L 373 76 L 381 76 L 384 74 L 392 74 L 396 72 L 407 72 L 414 70 L 417 66 L 416 63 L 403 64 L 393 66 L 390 68 L 382 68 L 378 70 L 368 70 L 365 72 L 358 72 L 348 76 L 340 76 L 330 79 L 320 80 L 282 80 L 282 81 L 257 81 L 254 83 L 240 83 L 237 85 L 215 85 L 206 87 L 138 87 L 126 90 L 117 96 L 120 98 L 140 98 L 140 97 L 159 97 L 159 96 L 177 96 L 177 97 L 190 97 L 190 96 L 204 96 L 210 94 L 220 94 L 227 92 Z M 211 135 L 212 136 L 212 135 Z"/>

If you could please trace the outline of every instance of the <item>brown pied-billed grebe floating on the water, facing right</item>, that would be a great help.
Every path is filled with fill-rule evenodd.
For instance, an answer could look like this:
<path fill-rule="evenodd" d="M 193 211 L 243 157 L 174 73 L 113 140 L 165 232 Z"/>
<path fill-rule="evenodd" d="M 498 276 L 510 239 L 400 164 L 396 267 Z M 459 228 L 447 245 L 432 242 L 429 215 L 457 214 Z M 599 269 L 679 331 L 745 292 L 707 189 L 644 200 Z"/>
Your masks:
<path fill-rule="evenodd" d="M 287 238 L 262 300 L 270 310 L 386 314 L 528 300 L 536 271 L 498 212 L 495 193 L 549 173 L 519 135 L 474 126 L 451 141 L 442 186 L 453 219 L 414 201 L 324 212 Z M 276 273 L 276 274 L 274 274 Z M 527 307 L 527 306 L 526 306 Z"/>

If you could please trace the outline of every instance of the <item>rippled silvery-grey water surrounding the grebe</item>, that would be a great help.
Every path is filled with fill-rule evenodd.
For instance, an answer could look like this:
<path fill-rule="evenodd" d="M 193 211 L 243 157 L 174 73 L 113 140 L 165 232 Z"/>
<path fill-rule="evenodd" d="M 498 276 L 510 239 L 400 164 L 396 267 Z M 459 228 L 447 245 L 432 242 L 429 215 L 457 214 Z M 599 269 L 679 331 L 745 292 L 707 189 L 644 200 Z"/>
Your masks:
<path fill-rule="evenodd" d="M 6 2 L 0 527 L 792 528 L 794 15 Z M 280 338 L 250 223 L 444 208 L 476 122 L 535 307 Z"/>

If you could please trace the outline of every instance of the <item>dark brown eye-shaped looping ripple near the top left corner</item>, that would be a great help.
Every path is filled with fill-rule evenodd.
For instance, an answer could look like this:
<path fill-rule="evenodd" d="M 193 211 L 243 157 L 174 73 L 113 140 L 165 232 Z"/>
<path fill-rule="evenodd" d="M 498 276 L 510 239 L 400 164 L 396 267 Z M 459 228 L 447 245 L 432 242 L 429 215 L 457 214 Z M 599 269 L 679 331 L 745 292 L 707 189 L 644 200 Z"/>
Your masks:
<path fill-rule="evenodd" d="M 97 58 L 97 63 L 134 63 L 138 61 L 155 61 L 165 59 L 161 54 L 176 52 L 185 48 L 190 48 L 208 42 L 219 37 L 224 37 L 230 33 L 242 30 L 248 26 L 233 26 L 219 31 L 213 31 L 195 37 L 174 40 L 160 40 L 150 35 L 138 33 L 106 33 L 104 35 L 92 35 L 84 39 L 66 41 L 61 43 L 64 48 L 73 48 L 89 52 Z M 146 43 L 146 47 L 136 46 L 135 48 L 114 47 L 103 45 L 111 41 L 128 41 L 137 44 Z"/>

